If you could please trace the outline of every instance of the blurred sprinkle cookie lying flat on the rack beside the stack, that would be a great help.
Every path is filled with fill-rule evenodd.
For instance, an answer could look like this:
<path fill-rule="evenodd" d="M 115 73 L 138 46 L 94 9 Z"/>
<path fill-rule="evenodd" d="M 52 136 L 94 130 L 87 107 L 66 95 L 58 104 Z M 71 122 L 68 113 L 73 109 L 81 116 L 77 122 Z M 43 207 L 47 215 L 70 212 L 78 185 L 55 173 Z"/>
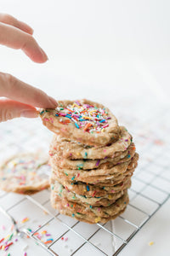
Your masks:
<path fill-rule="evenodd" d="M 0 189 L 21 194 L 47 189 L 50 170 L 47 155 L 14 155 L 0 166 Z"/>

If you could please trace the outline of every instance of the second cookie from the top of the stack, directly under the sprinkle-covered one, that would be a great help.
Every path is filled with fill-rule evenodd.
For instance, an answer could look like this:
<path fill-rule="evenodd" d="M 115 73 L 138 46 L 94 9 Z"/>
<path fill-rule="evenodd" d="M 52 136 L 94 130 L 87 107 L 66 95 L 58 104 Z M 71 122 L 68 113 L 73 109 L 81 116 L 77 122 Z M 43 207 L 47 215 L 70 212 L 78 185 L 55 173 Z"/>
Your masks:
<path fill-rule="evenodd" d="M 115 143 L 107 144 L 105 147 L 90 147 L 82 143 L 69 141 L 64 137 L 54 136 L 50 145 L 50 155 L 57 154 L 59 158 L 71 160 L 101 160 L 115 158 L 127 150 L 132 142 L 132 136 L 123 126 L 120 127 L 120 136 Z"/>

